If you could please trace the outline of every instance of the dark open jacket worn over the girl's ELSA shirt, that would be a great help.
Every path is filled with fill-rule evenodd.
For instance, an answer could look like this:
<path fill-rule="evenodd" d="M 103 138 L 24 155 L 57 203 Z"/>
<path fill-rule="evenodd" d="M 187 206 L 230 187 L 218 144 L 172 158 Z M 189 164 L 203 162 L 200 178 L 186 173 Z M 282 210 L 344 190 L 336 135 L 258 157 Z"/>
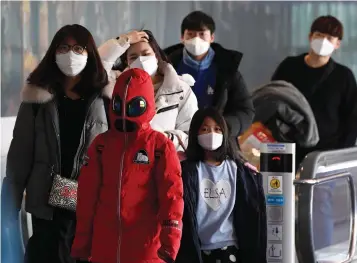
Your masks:
<path fill-rule="evenodd" d="M 181 246 L 176 263 L 203 263 L 197 233 L 197 202 L 199 182 L 197 163 L 184 161 L 182 180 L 185 209 Z M 267 219 L 261 174 L 253 173 L 237 161 L 237 195 L 234 208 L 236 231 L 241 263 L 266 263 Z"/>

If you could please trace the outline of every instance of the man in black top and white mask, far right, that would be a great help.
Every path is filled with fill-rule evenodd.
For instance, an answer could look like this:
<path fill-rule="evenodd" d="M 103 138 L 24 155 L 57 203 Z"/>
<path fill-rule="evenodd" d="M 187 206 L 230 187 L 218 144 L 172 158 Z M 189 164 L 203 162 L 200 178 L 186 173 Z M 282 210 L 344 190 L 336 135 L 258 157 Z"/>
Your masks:
<path fill-rule="evenodd" d="M 312 151 L 352 147 L 357 138 L 357 84 L 352 71 L 331 55 L 340 47 L 343 26 L 332 16 L 311 25 L 310 51 L 287 57 L 272 80 L 292 83 L 306 97 L 319 129 L 316 147 L 299 149 L 300 160 Z"/>

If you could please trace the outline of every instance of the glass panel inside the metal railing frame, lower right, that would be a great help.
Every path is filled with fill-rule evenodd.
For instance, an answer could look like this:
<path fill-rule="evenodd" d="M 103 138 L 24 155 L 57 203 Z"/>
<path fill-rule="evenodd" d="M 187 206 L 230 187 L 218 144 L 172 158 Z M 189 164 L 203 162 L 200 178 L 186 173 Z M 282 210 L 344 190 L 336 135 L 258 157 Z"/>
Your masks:
<path fill-rule="evenodd" d="M 333 173 L 321 173 L 325 177 Z M 357 168 L 349 170 L 357 184 Z M 317 261 L 341 262 L 348 256 L 351 199 L 347 179 L 337 179 L 314 187 L 313 236 Z M 356 196 L 354 198 L 357 198 Z"/>

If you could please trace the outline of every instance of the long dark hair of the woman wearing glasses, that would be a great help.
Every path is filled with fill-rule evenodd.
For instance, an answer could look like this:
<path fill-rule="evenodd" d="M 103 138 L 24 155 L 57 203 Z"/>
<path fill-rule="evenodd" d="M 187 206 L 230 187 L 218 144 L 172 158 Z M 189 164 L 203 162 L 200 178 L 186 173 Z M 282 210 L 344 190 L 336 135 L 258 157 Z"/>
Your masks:
<path fill-rule="evenodd" d="M 103 67 L 92 34 L 81 25 L 66 25 L 53 37 L 46 55 L 37 68 L 27 79 L 29 84 L 48 89 L 51 93 L 62 91 L 62 83 L 65 75 L 56 64 L 56 50 L 63 41 L 71 37 L 77 43 L 86 48 L 88 53 L 87 65 L 80 73 L 81 80 L 74 90 L 78 95 L 85 96 L 104 88 L 108 84 L 108 76 Z"/>

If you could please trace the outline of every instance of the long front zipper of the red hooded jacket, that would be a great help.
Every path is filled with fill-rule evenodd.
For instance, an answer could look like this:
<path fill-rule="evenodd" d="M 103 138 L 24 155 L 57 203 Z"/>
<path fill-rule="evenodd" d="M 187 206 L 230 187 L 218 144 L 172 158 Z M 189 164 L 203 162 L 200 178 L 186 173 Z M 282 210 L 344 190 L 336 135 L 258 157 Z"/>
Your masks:
<path fill-rule="evenodd" d="M 120 247 L 121 247 L 121 181 L 122 181 L 122 177 L 123 177 L 123 170 L 124 170 L 124 159 L 125 159 L 125 152 L 126 152 L 126 148 L 128 145 L 128 135 L 126 133 L 126 98 L 128 95 L 128 86 L 129 83 L 131 81 L 131 77 L 128 79 L 127 83 L 126 83 L 126 87 L 125 87 L 125 92 L 124 92 L 124 99 L 123 99 L 123 130 L 124 130 L 124 150 L 123 153 L 121 155 L 121 160 L 120 160 L 120 173 L 119 173 L 119 185 L 118 185 L 118 210 L 117 210 L 117 214 L 118 214 L 118 222 L 119 222 L 119 236 L 118 236 L 118 248 L 117 248 L 117 263 L 120 263 Z"/>

